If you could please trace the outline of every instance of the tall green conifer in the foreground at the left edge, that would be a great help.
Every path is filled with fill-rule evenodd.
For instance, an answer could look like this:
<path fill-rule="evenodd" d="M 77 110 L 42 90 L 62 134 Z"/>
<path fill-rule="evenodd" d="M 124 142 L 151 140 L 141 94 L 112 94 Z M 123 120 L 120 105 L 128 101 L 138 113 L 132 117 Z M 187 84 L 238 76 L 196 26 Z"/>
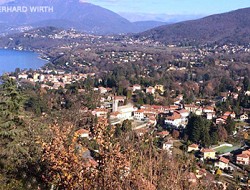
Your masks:
<path fill-rule="evenodd" d="M 34 130 L 33 121 L 23 117 L 23 102 L 24 94 L 17 83 L 4 78 L 0 85 L 0 178 L 4 176 L 5 180 L 0 179 L 0 183 L 13 188 L 18 184 L 20 189 L 26 183 L 29 188 L 37 188 L 41 167 L 36 135 L 40 127 L 36 125 Z M 34 180 L 30 183 L 27 178 Z"/>

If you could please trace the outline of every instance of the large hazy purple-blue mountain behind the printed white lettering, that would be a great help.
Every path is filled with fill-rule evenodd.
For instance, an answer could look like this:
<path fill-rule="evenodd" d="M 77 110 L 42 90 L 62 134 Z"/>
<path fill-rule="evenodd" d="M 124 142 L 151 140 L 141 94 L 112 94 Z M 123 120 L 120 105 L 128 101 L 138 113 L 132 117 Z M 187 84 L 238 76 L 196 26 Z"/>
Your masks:
<path fill-rule="evenodd" d="M 108 9 L 79 0 L 15 0 L 1 6 L 24 7 L 19 11 L 0 12 L 0 23 L 13 27 L 55 26 L 87 33 L 117 34 L 142 32 L 157 26 L 134 24 Z"/>

